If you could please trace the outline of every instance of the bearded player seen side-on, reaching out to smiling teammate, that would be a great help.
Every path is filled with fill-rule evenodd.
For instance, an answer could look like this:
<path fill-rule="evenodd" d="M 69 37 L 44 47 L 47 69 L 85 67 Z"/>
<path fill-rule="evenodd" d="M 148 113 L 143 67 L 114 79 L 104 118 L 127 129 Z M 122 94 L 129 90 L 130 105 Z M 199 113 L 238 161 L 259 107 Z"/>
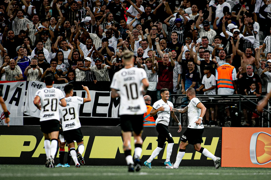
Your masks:
<path fill-rule="evenodd" d="M 172 166 L 167 166 L 166 168 L 177 169 L 185 154 L 186 146 L 188 144 L 193 144 L 196 151 L 202 153 L 208 158 L 213 159 L 215 162 L 215 168 L 218 169 L 221 166 L 221 158 L 214 156 L 206 148 L 202 148 L 200 146 L 200 144 L 203 142 L 202 133 L 204 131 L 204 126 L 201 120 L 205 114 L 206 107 L 200 102 L 198 98 L 196 98 L 196 91 L 194 88 L 188 88 L 186 90 L 186 96 L 190 100 L 187 107 L 184 109 L 172 108 L 170 110 L 178 113 L 188 112 L 189 125 L 181 137 L 180 149 L 177 154 L 176 162 Z"/>

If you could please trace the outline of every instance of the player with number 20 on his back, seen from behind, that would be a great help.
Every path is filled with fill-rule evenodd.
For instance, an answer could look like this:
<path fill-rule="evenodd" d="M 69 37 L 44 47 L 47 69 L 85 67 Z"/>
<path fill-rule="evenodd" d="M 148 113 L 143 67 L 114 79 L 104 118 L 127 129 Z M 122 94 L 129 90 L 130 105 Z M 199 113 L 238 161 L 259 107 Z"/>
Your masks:
<path fill-rule="evenodd" d="M 36 92 L 34 104 L 39 110 L 41 110 L 39 121 L 41 124 L 41 131 L 45 138 L 44 149 L 47 156 L 45 166 L 54 168 L 54 156 L 57 150 L 57 139 L 60 125 L 59 105 L 66 107 L 66 101 L 62 91 L 53 87 L 54 77 L 52 74 L 45 76 L 44 82 L 46 87 Z M 39 104 L 39 102 L 41 104 Z"/>

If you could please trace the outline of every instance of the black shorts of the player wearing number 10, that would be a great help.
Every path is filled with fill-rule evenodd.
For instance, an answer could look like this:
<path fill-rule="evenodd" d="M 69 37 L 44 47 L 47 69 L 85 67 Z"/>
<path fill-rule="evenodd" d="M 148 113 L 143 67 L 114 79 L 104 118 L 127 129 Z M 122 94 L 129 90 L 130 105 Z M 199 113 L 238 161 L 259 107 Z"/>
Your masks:
<path fill-rule="evenodd" d="M 141 115 L 121 115 L 120 116 L 121 129 L 124 132 L 134 131 L 140 134 L 143 129 L 143 114 Z"/>

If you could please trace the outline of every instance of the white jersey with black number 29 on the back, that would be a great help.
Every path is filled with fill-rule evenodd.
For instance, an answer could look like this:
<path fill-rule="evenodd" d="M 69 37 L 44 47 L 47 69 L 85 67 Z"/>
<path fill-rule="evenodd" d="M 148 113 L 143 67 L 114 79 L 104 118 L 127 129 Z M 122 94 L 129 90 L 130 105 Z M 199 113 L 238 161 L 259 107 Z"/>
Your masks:
<path fill-rule="evenodd" d="M 59 108 L 60 114 L 62 115 L 62 129 L 63 131 L 77 129 L 81 127 L 78 106 L 79 104 L 84 104 L 84 98 L 70 96 L 65 98 L 65 100 L 67 102 L 67 106 Z"/>

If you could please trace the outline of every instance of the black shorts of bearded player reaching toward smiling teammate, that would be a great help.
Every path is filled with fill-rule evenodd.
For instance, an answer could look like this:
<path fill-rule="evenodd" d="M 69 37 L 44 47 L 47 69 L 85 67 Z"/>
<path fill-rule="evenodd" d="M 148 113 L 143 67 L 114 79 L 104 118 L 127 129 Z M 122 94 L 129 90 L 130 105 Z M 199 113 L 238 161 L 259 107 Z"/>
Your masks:
<path fill-rule="evenodd" d="M 192 129 L 187 128 L 181 137 L 182 142 L 188 142 L 189 144 L 201 144 L 203 143 L 202 134 L 204 128 L 202 129 Z"/>

